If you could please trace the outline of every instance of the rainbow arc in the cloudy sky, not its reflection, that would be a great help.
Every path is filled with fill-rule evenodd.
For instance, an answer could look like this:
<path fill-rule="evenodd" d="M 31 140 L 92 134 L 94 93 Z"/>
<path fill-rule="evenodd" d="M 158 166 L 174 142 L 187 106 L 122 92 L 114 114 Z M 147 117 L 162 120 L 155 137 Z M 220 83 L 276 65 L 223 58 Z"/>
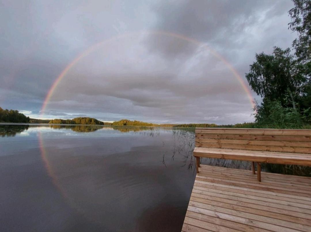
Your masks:
<path fill-rule="evenodd" d="M 100 47 L 101 45 L 103 45 L 104 43 L 108 43 L 110 41 L 113 41 L 115 39 L 120 39 L 120 38 L 124 38 L 127 36 L 131 36 L 131 35 L 135 35 L 135 34 L 158 34 L 158 35 L 165 35 L 165 36 L 170 36 L 176 39 L 182 39 L 185 41 L 188 41 L 190 43 L 194 43 L 197 44 L 199 46 L 201 46 L 202 48 L 205 48 L 207 50 L 209 50 L 215 57 L 217 57 L 219 60 L 221 60 L 222 62 L 225 63 L 225 65 L 229 68 L 229 70 L 233 73 L 233 75 L 236 77 L 236 79 L 239 81 L 239 83 L 241 84 L 242 88 L 244 89 L 245 93 L 247 94 L 249 101 L 252 105 L 252 108 L 255 107 L 254 102 L 253 102 L 253 96 L 248 88 L 248 85 L 245 83 L 245 81 L 242 79 L 242 77 L 239 75 L 239 73 L 234 69 L 234 67 L 227 61 L 225 60 L 225 58 L 223 58 L 222 56 L 220 56 L 219 53 L 217 53 L 216 51 L 212 50 L 210 47 L 208 47 L 205 43 L 199 42 L 195 39 L 192 38 L 188 38 L 184 35 L 181 34 L 175 34 L 175 33 L 171 33 L 171 32 L 165 32 L 165 31 L 143 31 L 143 32 L 134 32 L 134 33 L 128 33 L 128 34 L 122 34 L 122 35 L 118 35 L 115 37 L 112 37 L 110 39 L 106 39 L 103 40 L 99 43 L 95 43 L 94 45 L 92 45 L 91 47 L 87 48 L 84 52 L 82 52 L 81 54 L 79 54 L 74 60 L 72 60 L 67 66 L 66 68 L 60 73 L 60 75 L 56 78 L 56 80 L 54 81 L 54 83 L 52 84 L 51 88 L 49 89 L 44 102 L 42 104 L 41 107 L 41 111 L 40 111 L 40 115 L 42 115 L 53 95 L 53 92 L 55 91 L 55 89 L 57 88 L 57 86 L 59 85 L 59 83 L 61 82 L 61 80 L 66 76 L 66 74 L 70 71 L 70 69 L 75 66 L 75 64 L 77 64 L 78 61 L 80 61 L 83 57 L 86 57 L 87 55 L 89 55 L 91 52 L 93 52 L 96 48 Z"/>

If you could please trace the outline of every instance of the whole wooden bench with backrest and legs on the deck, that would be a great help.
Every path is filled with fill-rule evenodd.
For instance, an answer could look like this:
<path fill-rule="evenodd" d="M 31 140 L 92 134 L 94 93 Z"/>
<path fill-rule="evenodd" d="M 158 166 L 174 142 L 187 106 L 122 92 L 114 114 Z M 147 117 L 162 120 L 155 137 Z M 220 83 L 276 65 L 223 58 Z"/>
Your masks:
<path fill-rule="evenodd" d="M 311 166 L 311 130 L 196 128 L 197 173 L 200 157 L 251 161 L 261 181 L 260 163 Z"/>

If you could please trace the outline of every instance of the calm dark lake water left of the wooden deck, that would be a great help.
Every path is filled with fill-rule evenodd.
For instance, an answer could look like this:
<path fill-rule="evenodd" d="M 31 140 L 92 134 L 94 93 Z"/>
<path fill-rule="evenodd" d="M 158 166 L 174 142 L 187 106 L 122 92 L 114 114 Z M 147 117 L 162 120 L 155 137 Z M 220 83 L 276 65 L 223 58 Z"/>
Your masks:
<path fill-rule="evenodd" d="M 194 130 L 0 125 L 0 231 L 180 231 Z"/>

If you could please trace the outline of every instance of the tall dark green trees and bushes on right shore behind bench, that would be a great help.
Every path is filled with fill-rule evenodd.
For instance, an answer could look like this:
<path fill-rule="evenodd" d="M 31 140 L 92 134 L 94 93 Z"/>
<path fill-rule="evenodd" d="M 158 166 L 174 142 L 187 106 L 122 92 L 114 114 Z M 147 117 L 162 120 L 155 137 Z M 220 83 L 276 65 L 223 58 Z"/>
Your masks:
<path fill-rule="evenodd" d="M 262 97 L 254 109 L 260 128 L 311 128 L 311 0 L 293 0 L 289 29 L 297 33 L 291 48 L 256 54 L 245 74 Z"/>

